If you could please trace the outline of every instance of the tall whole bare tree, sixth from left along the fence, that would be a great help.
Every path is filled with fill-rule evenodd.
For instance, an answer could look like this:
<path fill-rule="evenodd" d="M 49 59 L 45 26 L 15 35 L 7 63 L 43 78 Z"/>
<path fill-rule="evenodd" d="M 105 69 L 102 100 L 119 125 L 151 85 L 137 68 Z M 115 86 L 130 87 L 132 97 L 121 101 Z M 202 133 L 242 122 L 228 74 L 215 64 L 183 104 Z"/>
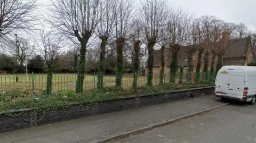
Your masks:
<path fill-rule="evenodd" d="M 140 18 L 142 21 L 143 32 L 147 40 L 148 48 L 148 77 L 147 86 L 152 86 L 153 66 L 154 66 L 154 46 L 159 41 L 161 29 L 166 24 L 169 4 L 165 0 L 144 0 Z"/>

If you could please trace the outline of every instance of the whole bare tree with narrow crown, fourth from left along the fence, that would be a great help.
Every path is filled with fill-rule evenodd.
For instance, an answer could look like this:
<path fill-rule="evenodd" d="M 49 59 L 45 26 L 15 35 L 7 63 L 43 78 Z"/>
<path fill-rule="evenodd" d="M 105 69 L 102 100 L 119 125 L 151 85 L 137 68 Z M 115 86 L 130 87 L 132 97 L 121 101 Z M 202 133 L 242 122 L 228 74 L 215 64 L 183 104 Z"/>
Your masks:
<path fill-rule="evenodd" d="M 121 0 L 118 1 L 115 9 L 115 35 L 116 35 L 116 53 L 117 53 L 117 71 L 116 71 L 116 86 L 121 87 L 123 75 L 123 49 L 125 41 L 129 38 L 134 11 L 133 1 Z"/>

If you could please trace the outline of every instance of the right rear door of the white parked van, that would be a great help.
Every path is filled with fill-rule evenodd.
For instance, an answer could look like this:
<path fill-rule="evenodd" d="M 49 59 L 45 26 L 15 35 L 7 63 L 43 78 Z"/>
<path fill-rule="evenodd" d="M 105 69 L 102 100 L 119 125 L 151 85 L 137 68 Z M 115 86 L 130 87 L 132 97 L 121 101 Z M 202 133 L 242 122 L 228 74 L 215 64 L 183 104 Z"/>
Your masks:
<path fill-rule="evenodd" d="M 230 70 L 228 83 L 228 96 L 242 99 L 244 92 L 244 71 Z"/>

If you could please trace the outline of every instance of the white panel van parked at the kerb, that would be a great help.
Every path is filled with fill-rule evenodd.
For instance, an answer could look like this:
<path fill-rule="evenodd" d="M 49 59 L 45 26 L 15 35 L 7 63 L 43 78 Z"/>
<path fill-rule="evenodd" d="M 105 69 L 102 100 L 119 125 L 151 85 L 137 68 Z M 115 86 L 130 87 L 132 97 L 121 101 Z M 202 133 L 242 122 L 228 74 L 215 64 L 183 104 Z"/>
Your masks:
<path fill-rule="evenodd" d="M 215 96 L 255 104 L 256 67 L 223 66 L 214 85 Z"/>

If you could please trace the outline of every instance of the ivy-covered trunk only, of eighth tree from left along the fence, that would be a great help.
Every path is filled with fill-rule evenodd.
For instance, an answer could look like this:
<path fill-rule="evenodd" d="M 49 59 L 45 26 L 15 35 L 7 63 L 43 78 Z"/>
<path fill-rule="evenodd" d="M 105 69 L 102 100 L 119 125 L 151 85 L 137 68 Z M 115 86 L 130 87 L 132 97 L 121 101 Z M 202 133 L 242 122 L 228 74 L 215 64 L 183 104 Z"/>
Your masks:
<path fill-rule="evenodd" d="M 180 50 L 180 46 L 179 45 L 174 45 L 172 47 L 172 62 L 170 65 L 170 79 L 169 81 L 171 83 L 175 83 L 175 77 L 176 77 L 176 73 L 177 73 L 177 64 L 178 64 L 178 52 Z"/>

